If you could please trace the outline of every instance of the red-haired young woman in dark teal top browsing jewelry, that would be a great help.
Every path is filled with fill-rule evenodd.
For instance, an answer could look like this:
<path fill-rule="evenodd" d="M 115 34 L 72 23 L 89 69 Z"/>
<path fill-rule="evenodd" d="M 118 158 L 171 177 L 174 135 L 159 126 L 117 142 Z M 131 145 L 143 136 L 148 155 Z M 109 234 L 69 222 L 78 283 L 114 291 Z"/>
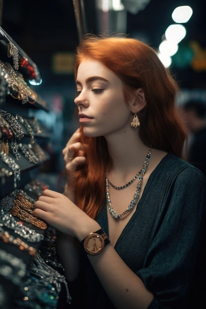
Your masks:
<path fill-rule="evenodd" d="M 192 294 L 197 309 L 206 181 L 181 158 L 175 80 L 148 45 L 94 36 L 75 79 L 65 192 L 45 190 L 34 210 L 60 232 L 74 308 L 186 309 Z"/>

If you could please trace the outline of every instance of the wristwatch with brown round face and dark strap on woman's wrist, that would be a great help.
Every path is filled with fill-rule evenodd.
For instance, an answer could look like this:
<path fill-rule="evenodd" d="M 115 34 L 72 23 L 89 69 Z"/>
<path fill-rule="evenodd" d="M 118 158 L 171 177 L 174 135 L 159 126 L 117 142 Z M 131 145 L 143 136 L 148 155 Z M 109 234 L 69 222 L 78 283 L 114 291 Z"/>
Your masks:
<path fill-rule="evenodd" d="M 81 241 L 84 250 L 90 255 L 101 253 L 104 250 L 104 247 L 109 243 L 110 240 L 102 229 L 89 233 Z"/>

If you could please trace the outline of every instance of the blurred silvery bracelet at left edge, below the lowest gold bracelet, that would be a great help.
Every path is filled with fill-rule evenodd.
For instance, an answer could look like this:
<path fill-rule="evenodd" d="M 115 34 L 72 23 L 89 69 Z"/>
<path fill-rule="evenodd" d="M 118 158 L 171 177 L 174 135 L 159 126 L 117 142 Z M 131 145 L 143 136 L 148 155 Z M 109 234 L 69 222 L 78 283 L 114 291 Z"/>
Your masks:
<path fill-rule="evenodd" d="M 0 275 L 13 284 L 20 285 L 26 275 L 26 264 L 22 259 L 0 249 Z"/>

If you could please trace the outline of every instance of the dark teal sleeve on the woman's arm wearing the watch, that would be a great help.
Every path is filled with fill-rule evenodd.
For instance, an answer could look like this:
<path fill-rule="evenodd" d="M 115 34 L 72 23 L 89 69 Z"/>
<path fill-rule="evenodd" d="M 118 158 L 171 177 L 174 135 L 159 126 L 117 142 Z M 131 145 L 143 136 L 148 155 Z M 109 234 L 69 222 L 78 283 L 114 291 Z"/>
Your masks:
<path fill-rule="evenodd" d="M 200 308 L 197 303 L 205 274 L 199 282 L 195 277 L 197 271 L 205 270 L 197 263 L 197 259 L 203 262 L 205 254 L 205 218 L 206 180 L 198 169 L 188 165 L 165 190 L 144 267 L 137 271 L 154 295 L 148 309 L 190 308 L 190 293 L 195 298 L 193 308 Z M 196 292 L 192 292 L 191 282 Z"/>

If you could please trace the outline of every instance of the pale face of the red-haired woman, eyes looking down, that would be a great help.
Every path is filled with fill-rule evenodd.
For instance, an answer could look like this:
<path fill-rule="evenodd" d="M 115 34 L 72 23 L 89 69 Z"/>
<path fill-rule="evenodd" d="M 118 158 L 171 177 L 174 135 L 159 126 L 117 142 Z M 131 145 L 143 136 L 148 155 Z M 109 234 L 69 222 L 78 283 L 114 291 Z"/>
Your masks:
<path fill-rule="evenodd" d="M 125 104 L 123 82 L 101 62 L 85 59 L 77 73 L 75 104 L 86 136 L 125 132 L 132 114 Z"/>

